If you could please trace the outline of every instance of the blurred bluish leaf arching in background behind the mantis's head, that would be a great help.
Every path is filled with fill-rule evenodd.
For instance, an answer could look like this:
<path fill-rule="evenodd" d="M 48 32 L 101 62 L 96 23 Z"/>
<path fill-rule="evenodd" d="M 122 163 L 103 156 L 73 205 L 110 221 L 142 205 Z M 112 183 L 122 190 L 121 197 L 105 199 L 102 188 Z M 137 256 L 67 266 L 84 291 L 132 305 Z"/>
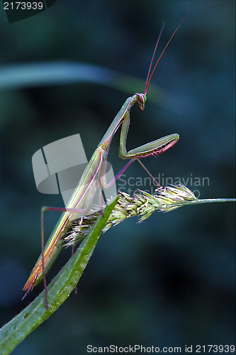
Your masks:
<path fill-rule="evenodd" d="M 33 62 L 3 65 L 0 68 L 0 90 L 22 89 L 55 84 L 92 82 L 107 85 L 125 92 L 142 92 L 145 81 L 130 75 L 123 75 L 99 65 L 83 62 Z M 148 101 L 165 106 L 167 93 L 155 84 L 150 84 Z"/>

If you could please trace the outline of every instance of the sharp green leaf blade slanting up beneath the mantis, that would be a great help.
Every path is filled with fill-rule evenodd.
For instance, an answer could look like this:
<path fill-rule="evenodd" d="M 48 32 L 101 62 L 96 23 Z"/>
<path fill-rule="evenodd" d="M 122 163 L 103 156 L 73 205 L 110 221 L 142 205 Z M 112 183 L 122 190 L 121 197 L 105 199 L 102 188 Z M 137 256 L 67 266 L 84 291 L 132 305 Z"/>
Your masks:
<path fill-rule="evenodd" d="M 118 198 L 119 196 L 113 198 L 106 205 L 103 209 L 103 216 L 99 216 L 89 235 L 84 238 L 72 258 L 48 285 L 48 311 L 45 308 L 45 291 L 43 291 L 19 315 L 0 329 L 0 354 L 10 354 L 19 342 L 50 317 L 69 297 L 89 262 L 101 231 L 118 202 Z"/>

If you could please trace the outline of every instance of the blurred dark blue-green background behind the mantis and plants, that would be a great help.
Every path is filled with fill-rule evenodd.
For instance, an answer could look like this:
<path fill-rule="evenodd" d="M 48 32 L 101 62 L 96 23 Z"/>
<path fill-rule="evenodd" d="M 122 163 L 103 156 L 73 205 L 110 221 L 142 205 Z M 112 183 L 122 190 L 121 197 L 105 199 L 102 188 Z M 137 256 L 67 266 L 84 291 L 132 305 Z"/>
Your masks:
<path fill-rule="evenodd" d="M 162 20 L 156 104 L 131 111 L 128 148 L 179 133 L 153 175 L 192 177 L 198 197 L 235 197 L 235 1 L 60 1 L 9 24 L 0 9 L 1 70 L 70 61 L 130 76 L 129 89 L 98 82 L 14 88 L 0 94 L 0 315 L 20 312 L 23 288 L 40 253 L 40 207 L 62 206 L 35 187 L 31 158 L 57 139 L 80 133 L 87 158 L 125 99 L 142 92 Z M 141 81 L 132 84 L 132 77 Z M 150 87 L 150 95 L 152 88 Z M 153 97 L 153 96 L 152 96 Z M 118 172 L 117 135 L 109 161 Z M 127 176 L 144 177 L 138 164 Z M 209 184 L 203 185 L 203 178 Z M 184 180 L 181 180 L 184 182 Z M 196 180 L 194 180 L 196 181 Z M 48 233 L 57 215 L 47 215 Z M 130 219 L 101 236 L 78 294 L 35 329 L 13 354 L 86 354 L 86 345 L 183 346 L 235 343 L 235 206 L 206 204 Z M 48 280 L 66 263 L 63 251 Z M 37 344 L 37 345 L 36 345 Z"/>

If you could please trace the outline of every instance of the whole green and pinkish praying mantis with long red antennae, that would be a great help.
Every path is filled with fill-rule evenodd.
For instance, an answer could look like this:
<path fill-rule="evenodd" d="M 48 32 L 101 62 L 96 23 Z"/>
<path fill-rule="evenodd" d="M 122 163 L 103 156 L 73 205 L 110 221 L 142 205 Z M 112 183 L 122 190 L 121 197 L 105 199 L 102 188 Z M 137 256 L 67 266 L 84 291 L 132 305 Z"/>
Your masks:
<path fill-rule="evenodd" d="M 186 15 L 184 16 L 184 18 Z M 184 21 L 182 18 L 179 25 L 176 27 L 174 33 L 172 33 L 171 38 L 167 42 L 169 45 L 170 40 L 178 30 L 181 23 Z M 77 218 L 74 214 L 81 213 L 82 215 L 89 214 L 89 209 L 91 207 L 91 202 L 94 198 L 94 194 L 96 189 L 99 187 L 101 190 L 102 188 L 107 188 L 111 186 L 113 180 L 116 180 L 123 171 L 128 168 L 128 166 L 133 163 L 134 160 L 137 160 L 143 168 L 144 165 L 140 162 L 139 158 L 145 158 L 147 155 L 154 155 L 160 154 L 164 151 L 167 151 L 170 147 L 172 147 L 178 140 L 179 134 L 173 133 L 169 136 L 165 136 L 162 138 L 157 139 L 156 141 L 152 141 L 147 143 L 143 146 L 137 147 L 132 149 L 131 151 L 126 150 L 126 138 L 128 135 L 128 129 L 130 125 L 130 109 L 133 107 L 133 104 L 137 104 L 141 110 L 145 109 L 145 102 L 147 100 L 147 88 L 150 84 L 151 77 L 154 73 L 154 70 L 159 62 L 160 58 L 162 57 L 164 50 L 166 50 L 167 45 L 165 45 L 164 50 L 162 50 L 161 55 L 157 62 L 154 65 L 154 68 L 150 74 L 152 68 L 152 62 L 154 59 L 155 52 L 157 50 L 157 45 L 159 43 L 159 38 L 162 35 L 162 31 L 164 28 L 164 23 L 162 24 L 162 29 L 159 33 L 159 37 L 157 39 L 157 43 L 154 48 L 154 53 L 152 55 L 152 60 L 150 62 L 150 68 L 147 74 L 147 80 L 145 84 L 145 91 L 143 94 L 136 93 L 132 97 L 128 97 L 125 103 L 121 107 L 120 111 L 113 119 L 111 125 L 109 126 L 108 130 L 106 131 L 105 135 L 101 139 L 99 145 L 97 146 L 96 150 L 94 151 L 89 163 L 86 165 L 82 178 L 79 180 L 77 187 L 74 189 L 72 196 L 69 199 L 69 202 L 65 208 L 57 208 L 57 207 L 43 207 L 41 212 L 41 240 L 42 240 L 42 253 L 36 261 L 33 270 L 30 273 L 28 280 L 26 281 L 26 285 L 24 285 L 23 290 L 26 290 L 26 294 L 23 298 L 28 294 L 30 290 L 33 290 L 35 285 L 38 285 L 40 281 L 43 279 L 44 286 L 45 286 L 45 306 L 47 306 L 47 284 L 45 279 L 45 273 L 50 269 L 52 263 L 57 258 L 58 253 L 62 249 L 63 237 L 66 234 L 69 226 L 72 224 L 72 219 Z M 120 148 L 119 148 L 119 156 L 123 159 L 130 159 L 128 164 L 120 170 L 120 172 L 116 175 L 116 178 L 111 180 L 111 182 L 106 182 L 106 162 L 108 151 L 110 148 L 111 140 L 121 126 L 121 133 L 120 133 Z M 147 169 L 145 168 L 147 171 Z M 147 173 L 149 173 L 147 171 Z M 150 174 L 150 173 L 149 173 Z M 156 182 L 157 183 L 157 182 Z M 157 183 L 157 185 L 159 185 Z M 50 238 L 47 241 L 47 244 L 44 246 L 44 226 L 43 226 L 43 214 L 45 211 L 61 211 L 62 214 L 60 219 L 58 220 L 55 229 L 53 229 Z M 102 213 L 102 212 L 101 212 Z M 73 216 L 73 217 L 72 217 Z"/>

